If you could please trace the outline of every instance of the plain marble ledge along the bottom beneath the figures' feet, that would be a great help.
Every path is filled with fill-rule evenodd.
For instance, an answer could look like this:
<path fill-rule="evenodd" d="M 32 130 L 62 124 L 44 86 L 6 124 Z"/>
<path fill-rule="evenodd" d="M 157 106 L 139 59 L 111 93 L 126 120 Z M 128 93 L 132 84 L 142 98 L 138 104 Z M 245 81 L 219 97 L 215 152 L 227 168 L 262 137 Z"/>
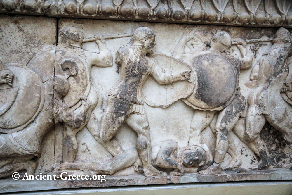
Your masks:
<path fill-rule="evenodd" d="M 110 186 L 128 186 L 128 185 L 150 185 L 151 184 L 186 184 L 201 182 L 232 182 L 246 180 L 291 180 L 291 172 L 289 170 L 263 170 L 250 171 L 248 173 L 237 174 L 233 171 L 224 171 L 220 175 L 203 176 L 197 173 L 185 174 L 184 176 L 168 176 L 168 177 L 145 177 L 143 175 L 128 176 L 108 176 L 107 181 L 92 180 L 11 180 L 1 179 L 0 190 L 3 193 L 34 191 L 34 190 L 50 190 L 63 188 L 83 188 L 83 187 L 110 187 Z M 209 184 L 210 185 L 210 184 Z M 41 189 L 37 186 L 42 186 Z"/>

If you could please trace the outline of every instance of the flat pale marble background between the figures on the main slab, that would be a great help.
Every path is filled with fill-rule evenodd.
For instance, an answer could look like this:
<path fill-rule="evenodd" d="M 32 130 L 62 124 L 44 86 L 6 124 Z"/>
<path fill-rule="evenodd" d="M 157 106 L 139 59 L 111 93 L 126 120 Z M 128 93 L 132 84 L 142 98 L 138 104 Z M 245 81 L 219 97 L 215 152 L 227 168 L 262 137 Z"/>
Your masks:
<path fill-rule="evenodd" d="M 62 19 L 60 21 L 59 29 L 62 29 L 66 26 L 71 26 L 71 25 L 74 25 L 75 27 L 78 27 L 79 29 L 81 29 L 82 32 L 84 32 L 85 38 L 93 37 L 92 36 L 93 34 L 103 34 L 105 36 L 110 35 L 110 34 L 118 35 L 120 34 L 120 32 L 123 32 L 123 34 L 132 34 L 133 31 L 139 26 L 147 26 L 156 33 L 156 38 L 155 38 L 156 45 L 154 46 L 154 52 L 165 54 L 167 56 L 172 55 L 173 50 L 176 46 L 176 43 L 178 43 L 180 41 L 180 38 L 183 36 L 183 32 L 189 26 L 191 26 L 191 25 L 177 25 L 177 24 L 153 24 L 153 23 L 117 22 L 117 21 L 94 21 L 94 20 L 81 20 L 81 19 L 79 20 Z M 206 31 L 224 30 L 226 32 L 229 32 L 232 40 L 236 40 L 239 38 L 242 38 L 244 40 L 267 39 L 267 38 L 272 37 L 275 32 L 274 29 L 257 29 L 257 28 L 251 29 L 251 28 L 240 28 L 240 27 L 200 26 L 200 25 L 194 25 L 193 27 L 196 30 L 206 30 Z M 173 31 L 177 33 L 177 36 L 175 37 L 172 36 Z M 241 32 L 241 34 L 239 34 L 238 32 Z M 253 32 L 253 33 L 249 33 L 249 32 Z M 172 38 L 165 39 L 165 37 L 172 37 Z M 116 58 L 115 51 L 117 51 L 121 45 L 123 46 L 128 45 L 130 44 L 130 42 L 131 42 L 131 37 L 106 40 L 107 47 L 111 51 L 113 55 L 113 59 Z M 82 45 L 84 49 L 89 50 L 89 51 L 93 50 L 93 48 L 96 48 L 95 43 L 84 43 Z M 250 51 L 255 52 L 253 54 L 255 58 L 259 58 L 260 54 L 262 54 L 270 45 L 271 45 L 270 42 L 248 44 L 248 49 Z M 187 47 L 185 47 L 185 50 L 187 52 Z M 230 51 L 232 51 L 236 56 L 241 55 L 239 50 L 236 48 L 236 46 L 232 46 Z M 257 59 L 253 59 L 253 65 L 256 63 L 256 61 Z M 240 73 L 240 78 L 239 78 L 239 87 L 241 88 L 240 91 L 246 97 L 246 99 L 248 97 L 248 94 L 251 92 L 251 89 L 246 87 L 244 83 L 250 81 L 249 80 L 250 72 L 251 72 L 251 68 L 247 70 L 242 70 Z M 106 108 L 107 93 L 119 83 L 120 74 L 121 74 L 120 70 L 118 69 L 116 63 L 114 63 L 112 67 L 108 67 L 108 68 L 98 68 L 98 67 L 92 68 L 92 71 L 91 71 L 92 84 L 103 95 L 104 109 Z M 112 75 L 116 75 L 116 76 L 113 77 Z M 150 77 L 149 81 L 151 80 L 152 78 Z M 145 88 L 147 88 L 147 81 L 145 83 Z M 167 89 L 164 89 L 164 87 L 160 88 L 161 96 L 163 96 L 163 94 L 167 92 L 166 90 Z M 150 94 L 148 95 L 150 96 Z M 187 106 L 181 100 L 173 103 L 168 108 L 159 108 L 159 107 L 154 108 L 154 107 L 148 106 L 147 104 L 145 104 L 144 106 L 147 113 L 147 118 L 149 120 L 152 146 L 155 146 L 166 140 L 177 141 L 179 147 L 187 146 L 189 142 L 189 133 L 190 133 L 189 125 L 191 123 L 192 115 L 194 112 L 194 110 L 190 106 Z M 177 120 L 177 118 L 179 118 L 180 120 Z M 239 150 L 239 153 L 241 153 L 240 155 L 242 158 L 241 167 L 249 168 L 250 165 L 256 164 L 257 157 L 254 155 L 254 153 L 250 149 L 248 149 L 248 147 L 244 143 L 242 143 L 237 138 L 237 136 L 233 134 L 233 132 L 230 132 L 230 134 L 234 138 L 234 141 L 236 143 L 237 149 Z M 75 161 L 82 162 L 84 161 L 84 159 L 86 159 L 85 161 L 96 161 L 96 158 L 91 157 L 89 153 L 91 153 L 91 155 L 94 154 L 94 156 L 98 156 L 98 155 L 101 156 L 98 158 L 100 160 L 98 160 L 97 162 L 102 163 L 102 162 L 106 162 L 107 160 L 110 160 L 111 157 L 109 156 L 109 153 L 103 149 L 100 149 L 103 147 L 100 147 L 98 143 L 96 143 L 97 146 L 94 146 L 94 145 L 90 146 L 89 144 L 86 144 L 87 142 L 86 140 L 88 139 L 89 135 L 90 133 L 86 131 L 86 129 L 84 129 L 79 134 L 77 134 L 77 139 L 84 144 L 81 144 L 82 149 L 78 150 Z M 277 137 L 274 134 L 271 134 L 270 136 Z M 121 144 L 123 150 L 130 149 L 132 146 L 135 145 L 135 140 L 136 140 L 135 132 L 129 130 L 128 125 L 122 126 L 115 137 Z M 207 127 L 202 132 L 202 139 L 205 141 L 205 143 L 209 146 L 211 151 L 214 153 L 215 152 L 215 145 L 214 145 L 215 136 L 213 136 L 209 127 Z M 283 151 L 283 153 L 287 154 L 285 158 L 281 158 L 280 156 L 282 156 L 283 154 L 282 152 L 280 151 L 272 152 L 272 153 L 278 153 L 278 155 L 274 156 L 274 158 L 277 159 L 276 160 L 277 163 L 289 164 L 289 161 L 291 158 L 290 157 L 291 149 L 286 144 L 280 144 L 281 143 L 280 140 L 282 140 L 282 138 L 277 137 L 276 140 L 278 141 L 272 141 L 273 139 L 265 139 L 265 140 L 266 141 L 269 140 L 270 142 L 270 143 L 266 143 L 267 146 L 272 146 L 274 147 L 274 149 L 276 150 L 279 149 L 280 151 Z M 100 151 L 102 153 L 100 153 Z M 105 157 L 107 157 L 107 159 Z M 226 155 L 225 160 L 223 161 L 223 166 L 227 166 L 230 160 L 231 159 L 229 155 Z"/>

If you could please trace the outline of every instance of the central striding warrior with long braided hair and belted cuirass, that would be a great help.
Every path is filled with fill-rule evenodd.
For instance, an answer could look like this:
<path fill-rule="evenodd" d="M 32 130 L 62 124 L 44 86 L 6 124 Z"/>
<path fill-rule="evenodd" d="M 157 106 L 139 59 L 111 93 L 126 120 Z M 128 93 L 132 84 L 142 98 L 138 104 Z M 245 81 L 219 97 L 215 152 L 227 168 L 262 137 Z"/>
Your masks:
<path fill-rule="evenodd" d="M 179 74 L 166 73 L 157 65 L 152 54 L 155 34 L 147 27 L 140 27 L 133 35 L 133 45 L 117 51 L 116 62 L 121 65 L 121 82 L 109 92 L 107 108 L 101 119 L 100 137 L 109 141 L 125 122 L 138 134 L 137 150 L 143 164 L 144 175 L 166 176 L 151 165 L 149 125 L 141 87 L 152 75 L 159 84 L 171 84 L 178 80 L 190 80 L 190 71 Z"/>

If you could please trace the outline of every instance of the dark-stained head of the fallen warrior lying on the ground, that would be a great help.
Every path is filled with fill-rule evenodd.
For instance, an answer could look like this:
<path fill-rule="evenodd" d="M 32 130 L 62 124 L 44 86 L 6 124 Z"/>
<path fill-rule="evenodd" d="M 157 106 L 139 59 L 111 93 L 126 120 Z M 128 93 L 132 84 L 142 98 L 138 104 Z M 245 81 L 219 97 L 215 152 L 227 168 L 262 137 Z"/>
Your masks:
<path fill-rule="evenodd" d="M 206 163 L 206 152 L 197 146 L 192 146 L 183 153 L 183 165 L 186 167 L 200 167 Z"/>

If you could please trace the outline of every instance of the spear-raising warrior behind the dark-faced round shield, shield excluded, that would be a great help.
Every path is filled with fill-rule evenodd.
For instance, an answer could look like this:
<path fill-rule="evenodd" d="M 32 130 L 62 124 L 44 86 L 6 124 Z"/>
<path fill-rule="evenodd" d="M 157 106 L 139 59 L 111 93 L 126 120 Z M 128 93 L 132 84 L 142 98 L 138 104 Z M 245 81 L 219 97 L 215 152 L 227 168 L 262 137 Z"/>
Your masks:
<path fill-rule="evenodd" d="M 207 127 L 212 120 L 216 120 L 215 128 L 211 128 L 213 133 L 214 132 L 216 133 L 216 147 L 215 147 L 215 158 L 214 158 L 215 162 L 206 170 L 202 170 L 199 172 L 200 174 L 203 174 L 203 175 L 220 174 L 221 163 L 225 157 L 225 154 L 227 153 L 229 149 L 230 139 L 228 139 L 227 134 L 237 123 L 239 116 L 243 113 L 244 108 L 245 108 L 246 101 L 245 101 L 244 96 L 239 91 L 240 87 L 238 86 L 239 71 L 242 69 L 251 68 L 251 65 L 252 65 L 251 62 L 253 60 L 253 57 L 251 55 L 251 52 L 249 52 L 246 49 L 246 43 L 243 43 L 242 45 L 237 45 L 237 47 L 241 51 L 241 54 L 243 56 L 242 58 L 235 57 L 229 52 L 229 49 L 231 48 L 231 38 L 228 33 L 224 31 L 220 31 L 216 33 L 211 40 L 211 47 L 209 51 L 213 54 L 222 56 L 223 58 L 227 60 L 227 62 L 229 62 L 230 64 L 234 66 L 233 68 L 234 68 L 235 82 L 236 82 L 234 86 L 236 87 L 236 92 L 235 92 L 235 95 L 233 95 L 234 97 L 231 98 L 229 101 L 227 101 L 227 103 L 225 103 L 224 108 L 220 110 L 217 115 L 215 115 L 216 110 L 205 111 L 207 113 L 205 113 L 206 120 L 203 122 L 204 124 L 200 124 L 194 121 L 195 118 L 193 118 L 192 120 L 191 127 L 194 131 L 191 132 L 190 136 L 194 137 L 194 135 L 198 135 L 199 138 L 200 138 L 200 135 L 199 135 L 200 132 L 205 127 Z M 204 112 L 204 111 L 201 111 L 201 112 Z M 200 114 L 200 113 L 197 113 L 197 114 Z M 215 115 L 215 119 L 214 119 L 214 115 Z M 194 117 L 196 117 L 195 114 L 194 114 Z M 212 127 L 212 125 L 210 127 Z"/>

